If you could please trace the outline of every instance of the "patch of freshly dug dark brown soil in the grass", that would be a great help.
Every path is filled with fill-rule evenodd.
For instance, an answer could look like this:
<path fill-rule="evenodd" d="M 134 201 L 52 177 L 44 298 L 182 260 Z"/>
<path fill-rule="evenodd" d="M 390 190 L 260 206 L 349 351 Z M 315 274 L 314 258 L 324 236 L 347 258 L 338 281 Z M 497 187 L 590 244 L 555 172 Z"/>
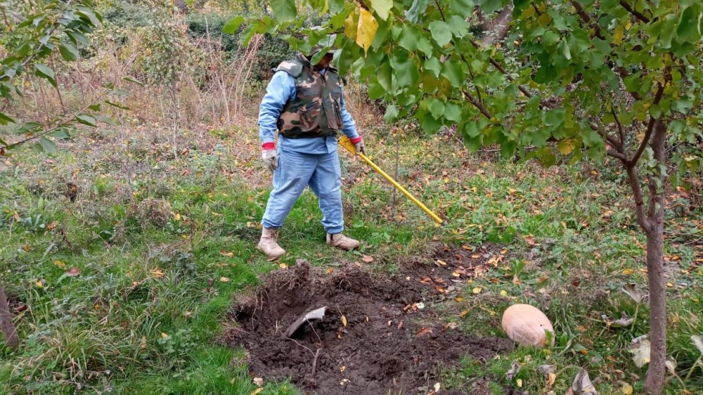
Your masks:
<path fill-rule="evenodd" d="M 247 349 L 254 377 L 291 377 L 310 394 L 427 394 L 441 366 L 511 351 L 505 338 L 479 339 L 441 321 L 416 275 L 375 276 L 353 264 L 323 271 L 299 262 L 240 297 L 223 340 Z M 425 292 L 427 295 L 427 293 Z M 327 306 L 293 339 L 288 325 Z M 463 394 L 463 391 L 442 391 Z"/>

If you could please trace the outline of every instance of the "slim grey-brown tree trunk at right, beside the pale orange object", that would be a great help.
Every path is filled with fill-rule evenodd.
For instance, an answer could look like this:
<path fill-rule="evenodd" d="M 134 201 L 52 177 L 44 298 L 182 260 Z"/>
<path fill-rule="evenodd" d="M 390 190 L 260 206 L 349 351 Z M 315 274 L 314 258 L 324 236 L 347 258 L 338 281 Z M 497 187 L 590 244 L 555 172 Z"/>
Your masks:
<path fill-rule="evenodd" d="M 666 287 L 664 285 L 664 181 L 666 174 L 666 124 L 654 124 L 650 146 L 659 167 L 650 176 L 649 209 L 650 228 L 647 235 L 647 280 L 650 287 L 650 367 L 645 380 L 645 393 L 662 394 L 666 377 Z M 659 179 L 659 180 L 657 180 Z M 657 182 L 659 181 L 659 182 Z"/>

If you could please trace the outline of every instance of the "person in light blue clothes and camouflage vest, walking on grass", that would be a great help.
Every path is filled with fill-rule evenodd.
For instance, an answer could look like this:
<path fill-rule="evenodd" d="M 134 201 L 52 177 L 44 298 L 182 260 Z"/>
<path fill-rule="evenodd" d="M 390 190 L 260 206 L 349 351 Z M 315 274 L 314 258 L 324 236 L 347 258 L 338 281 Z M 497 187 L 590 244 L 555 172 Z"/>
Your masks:
<path fill-rule="evenodd" d="M 262 219 L 258 248 L 269 259 L 285 254 L 278 245 L 278 229 L 306 186 L 318 197 L 327 244 L 342 250 L 359 247 L 357 240 L 342 234 L 337 134 L 342 131 L 349 137 L 357 155 L 365 153 L 363 139 L 344 106 L 342 79 L 330 66 L 333 51 L 325 53 L 315 65 L 310 62 L 322 49 L 316 46 L 308 56 L 297 53 L 294 59 L 280 63 L 259 108 L 262 159 L 273 171 L 273 190 Z M 276 130 L 278 148 L 274 143 Z"/>

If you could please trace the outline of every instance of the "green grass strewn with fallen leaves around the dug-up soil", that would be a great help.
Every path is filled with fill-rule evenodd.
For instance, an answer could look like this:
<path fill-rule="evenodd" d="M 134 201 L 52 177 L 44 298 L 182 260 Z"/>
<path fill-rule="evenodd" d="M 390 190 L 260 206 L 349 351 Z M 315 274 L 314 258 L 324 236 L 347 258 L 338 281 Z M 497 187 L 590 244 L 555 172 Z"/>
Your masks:
<path fill-rule="evenodd" d="M 496 254 L 505 249 L 505 259 L 464 287 L 460 299 L 437 306 L 439 319 L 473 335 L 503 336 L 502 311 L 529 303 L 557 332 L 551 349 L 521 348 L 490 361 L 467 357 L 460 368 L 442 370 L 444 388 L 485 377 L 495 394 L 517 388 L 517 379 L 520 389 L 546 393 L 538 366 L 547 364 L 558 373 L 556 393 L 568 389 L 579 368 L 601 380 L 601 394 L 619 393 L 622 382 L 641 389 L 646 367 L 636 368 L 627 348 L 647 332 L 647 307 L 640 306 L 633 328 L 606 328 L 601 318 L 633 316 L 636 305 L 620 289 L 646 280 L 645 240 L 617 171 L 469 157 L 443 138 L 408 136 L 398 181 L 448 219 L 445 226 L 399 193 L 392 204 L 386 181 L 345 156 L 346 233 L 363 240 L 363 249 L 325 245 L 317 201 L 306 191 L 281 231 L 288 254 L 271 263 L 254 248 L 270 181 L 251 134 L 254 143 L 244 147 L 250 152 L 239 156 L 231 154 L 234 143 L 207 137 L 187 142 L 202 149 L 169 161 L 147 148 L 153 136 L 134 133 L 129 146 L 105 138 L 86 150 L 78 139 L 53 156 L 18 150 L 1 164 L 1 280 L 13 304 L 28 306 L 15 318 L 20 351 L 0 350 L 1 393 L 248 394 L 255 386 L 243 350 L 217 342 L 236 292 L 296 259 L 330 266 L 367 254 L 374 257 L 368 268 L 390 273 L 406 257 L 431 264 L 428 246 L 437 240 Z M 368 136 L 367 145 L 390 170 L 394 150 L 382 137 Z M 79 186 L 76 202 L 64 196 L 66 182 Z M 682 378 L 699 356 L 690 336 L 703 332 L 703 269 L 695 268 L 702 215 L 697 207 L 672 209 L 668 217 L 666 255 L 677 257 L 667 290 L 669 354 Z M 67 274 L 72 268 L 78 276 Z M 507 380 L 513 361 L 522 370 Z M 670 377 L 669 391 L 698 391 L 699 377 L 700 370 L 683 384 Z M 263 393 L 299 391 L 267 382 Z"/>

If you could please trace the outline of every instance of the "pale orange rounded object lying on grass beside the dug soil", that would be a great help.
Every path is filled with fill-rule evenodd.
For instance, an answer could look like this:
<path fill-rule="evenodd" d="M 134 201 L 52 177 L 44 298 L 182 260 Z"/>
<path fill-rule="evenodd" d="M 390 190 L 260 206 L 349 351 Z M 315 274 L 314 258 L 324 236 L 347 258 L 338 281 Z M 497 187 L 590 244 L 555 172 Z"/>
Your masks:
<path fill-rule="evenodd" d="M 513 341 L 522 346 L 544 347 L 547 344 L 546 331 L 552 333 L 554 328 L 549 318 L 539 309 L 529 304 L 514 304 L 503 313 L 503 330 Z"/>

